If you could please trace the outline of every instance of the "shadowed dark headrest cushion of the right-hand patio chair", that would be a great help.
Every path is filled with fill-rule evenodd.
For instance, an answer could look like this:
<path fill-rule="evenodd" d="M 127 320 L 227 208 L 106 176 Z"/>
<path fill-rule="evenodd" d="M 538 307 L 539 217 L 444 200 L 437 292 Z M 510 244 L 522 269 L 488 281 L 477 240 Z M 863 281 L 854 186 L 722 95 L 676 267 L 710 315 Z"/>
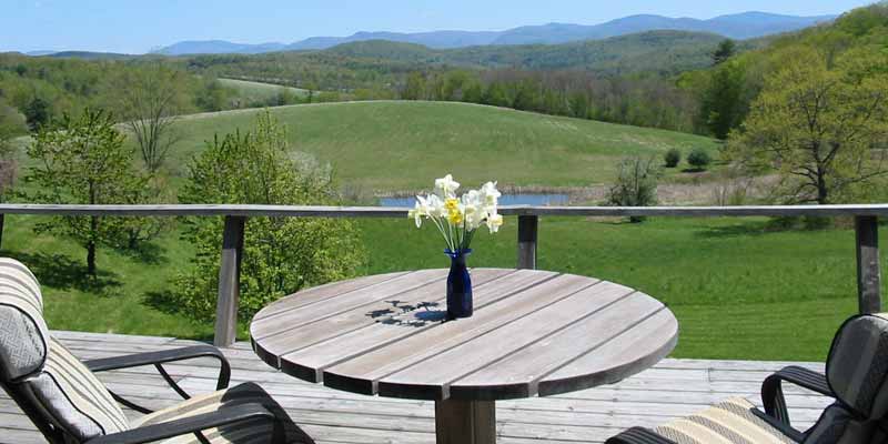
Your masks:
<path fill-rule="evenodd" d="M 829 386 L 855 413 L 888 413 L 888 314 L 854 316 L 833 340 L 826 364 Z"/>

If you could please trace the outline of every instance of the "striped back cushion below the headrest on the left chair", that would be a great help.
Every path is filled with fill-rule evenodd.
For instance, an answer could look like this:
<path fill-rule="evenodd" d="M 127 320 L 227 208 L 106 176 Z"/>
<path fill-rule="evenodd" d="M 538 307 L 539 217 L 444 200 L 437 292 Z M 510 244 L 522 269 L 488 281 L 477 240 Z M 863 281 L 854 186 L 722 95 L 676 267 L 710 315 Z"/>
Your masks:
<path fill-rule="evenodd" d="M 80 441 L 129 428 L 108 389 L 53 339 L 43 372 L 24 383 L 54 423 Z"/>

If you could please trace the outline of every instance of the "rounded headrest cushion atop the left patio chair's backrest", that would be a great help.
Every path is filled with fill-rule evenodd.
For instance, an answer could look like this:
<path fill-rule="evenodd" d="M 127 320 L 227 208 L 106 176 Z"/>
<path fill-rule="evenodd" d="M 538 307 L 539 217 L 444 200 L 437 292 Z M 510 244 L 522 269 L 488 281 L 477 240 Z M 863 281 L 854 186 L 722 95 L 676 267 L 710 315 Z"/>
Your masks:
<path fill-rule="evenodd" d="M 0 258 L 0 382 L 40 371 L 47 357 L 47 337 L 37 279 L 20 262 Z"/>

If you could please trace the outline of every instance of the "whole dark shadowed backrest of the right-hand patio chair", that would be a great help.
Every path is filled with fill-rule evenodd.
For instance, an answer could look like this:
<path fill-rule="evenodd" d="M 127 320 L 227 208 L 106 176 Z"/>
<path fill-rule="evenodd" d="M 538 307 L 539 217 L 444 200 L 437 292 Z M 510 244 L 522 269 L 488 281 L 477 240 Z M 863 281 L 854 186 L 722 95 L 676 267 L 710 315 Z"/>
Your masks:
<path fill-rule="evenodd" d="M 888 442 L 888 313 L 852 316 L 839 327 L 826 376 L 837 401 L 805 443 Z"/>

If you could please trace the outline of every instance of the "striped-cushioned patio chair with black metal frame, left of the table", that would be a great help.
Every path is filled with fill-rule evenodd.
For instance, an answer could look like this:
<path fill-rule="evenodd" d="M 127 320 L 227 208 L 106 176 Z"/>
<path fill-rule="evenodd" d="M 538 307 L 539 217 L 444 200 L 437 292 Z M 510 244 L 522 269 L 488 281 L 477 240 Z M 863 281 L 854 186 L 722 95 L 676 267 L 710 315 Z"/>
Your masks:
<path fill-rule="evenodd" d="M 219 361 L 215 393 L 191 397 L 163 367 L 195 357 Z M 186 401 L 151 412 L 93 374 L 142 365 L 155 366 Z M 259 385 L 226 389 L 230 375 L 225 356 L 209 345 L 79 361 L 49 335 L 33 274 L 0 258 L 0 385 L 50 443 L 313 443 Z M 115 401 L 145 415 L 129 421 Z"/>

